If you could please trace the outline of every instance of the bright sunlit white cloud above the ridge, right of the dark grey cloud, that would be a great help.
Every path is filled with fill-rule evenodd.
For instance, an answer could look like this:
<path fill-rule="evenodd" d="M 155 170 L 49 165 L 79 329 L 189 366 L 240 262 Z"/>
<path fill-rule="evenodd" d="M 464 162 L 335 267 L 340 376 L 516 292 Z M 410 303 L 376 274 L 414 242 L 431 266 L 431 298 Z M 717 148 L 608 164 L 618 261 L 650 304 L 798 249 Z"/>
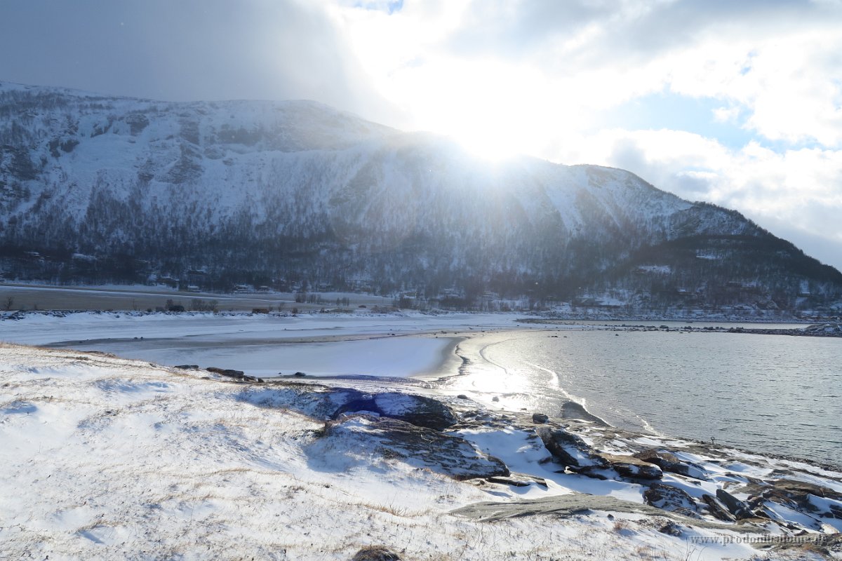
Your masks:
<path fill-rule="evenodd" d="M 824 247 L 842 268 L 842 3 L 406 0 L 389 16 L 337 13 L 402 124 L 624 167 Z M 698 118 L 754 140 L 605 123 L 651 93 L 717 100 Z"/>

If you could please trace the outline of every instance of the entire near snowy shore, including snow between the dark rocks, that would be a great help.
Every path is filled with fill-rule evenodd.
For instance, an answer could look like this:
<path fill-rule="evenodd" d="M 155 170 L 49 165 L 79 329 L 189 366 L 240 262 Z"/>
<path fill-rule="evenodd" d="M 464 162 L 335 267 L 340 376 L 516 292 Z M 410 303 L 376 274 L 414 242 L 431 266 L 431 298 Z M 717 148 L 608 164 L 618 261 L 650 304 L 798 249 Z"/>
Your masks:
<path fill-rule="evenodd" d="M 343 384 L 358 388 L 355 395 L 382 389 L 372 380 Z M 393 384 L 392 391 L 434 395 Z M 834 539 L 829 532 L 842 526 L 839 519 L 782 503 L 764 503 L 777 521 L 749 524 L 717 522 L 701 509 L 695 518 L 668 510 L 653 516 L 644 511 L 644 482 L 557 473 L 557 458 L 523 415 L 440 397 L 458 422 L 446 434 L 415 427 L 422 441 L 435 433 L 456 450 L 467 445 L 458 454 L 477 458 L 477 473 L 489 454 L 528 476 L 460 481 L 464 474 L 455 479 L 436 447 L 394 440 L 409 423 L 392 421 L 396 429 L 376 416 L 340 415 L 326 425 L 325 414 L 350 391 L 242 384 L 97 353 L 0 346 L 3 551 L 9 558 L 51 559 L 347 559 L 382 544 L 404 559 L 766 558 L 743 541 L 765 536 L 780 546 L 797 532 L 807 532 L 813 545 L 778 548 L 768 558 L 827 558 L 839 551 L 838 542 L 815 546 Z M 405 415 L 398 397 L 378 406 Z M 736 451 L 728 458 L 727 451 L 573 420 L 546 426 L 562 425 L 615 454 L 635 447 L 681 450 L 681 461 L 705 477 L 664 470 L 659 481 L 694 500 L 725 487 L 744 500 L 741 486 L 785 476 L 842 492 L 842 474 L 806 464 Z M 555 515 L 506 515 L 512 503 L 534 510 L 530 500 L 552 497 L 595 498 L 589 511 L 565 516 L 558 505 Z M 500 503 L 495 511 L 503 514 L 477 515 L 487 507 L 471 505 L 488 501 Z M 815 502 L 823 511 L 842 505 Z"/>

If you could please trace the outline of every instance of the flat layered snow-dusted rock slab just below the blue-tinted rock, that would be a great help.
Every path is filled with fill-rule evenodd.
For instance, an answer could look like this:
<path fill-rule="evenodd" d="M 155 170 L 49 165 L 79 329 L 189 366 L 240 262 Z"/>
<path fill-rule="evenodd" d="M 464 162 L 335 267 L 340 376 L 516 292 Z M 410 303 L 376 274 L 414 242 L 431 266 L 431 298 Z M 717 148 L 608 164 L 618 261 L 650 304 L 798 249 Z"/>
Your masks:
<path fill-rule="evenodd" d="M 336 441 L 325 448 L 332 454 L 347 449 L 349 454 L 358 455 L 368 450 L 454 479 L 509 476 L 505 463 L 480 452 L 465 439 L 397 419 L 347 415 L 328 423 L 323 438 Z M 317 455 L 323 457 L 325 450 Z"/>

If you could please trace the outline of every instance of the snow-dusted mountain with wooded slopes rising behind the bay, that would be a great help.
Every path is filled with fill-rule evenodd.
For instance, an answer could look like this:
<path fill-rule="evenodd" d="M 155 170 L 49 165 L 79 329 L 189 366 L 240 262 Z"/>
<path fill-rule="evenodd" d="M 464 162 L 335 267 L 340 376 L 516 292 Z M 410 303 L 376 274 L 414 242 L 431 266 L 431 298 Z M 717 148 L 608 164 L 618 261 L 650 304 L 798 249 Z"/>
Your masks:
<path fill-rule="evenodd" d="M 632 173 L 528 157 L 493 165 L 307 101 L 164 103 L 0 84 L 0 219 L 7 278 L 467 298 L 620 291 L 640 305 L 842 294 L 842 274 L 742 215 Z"/>

